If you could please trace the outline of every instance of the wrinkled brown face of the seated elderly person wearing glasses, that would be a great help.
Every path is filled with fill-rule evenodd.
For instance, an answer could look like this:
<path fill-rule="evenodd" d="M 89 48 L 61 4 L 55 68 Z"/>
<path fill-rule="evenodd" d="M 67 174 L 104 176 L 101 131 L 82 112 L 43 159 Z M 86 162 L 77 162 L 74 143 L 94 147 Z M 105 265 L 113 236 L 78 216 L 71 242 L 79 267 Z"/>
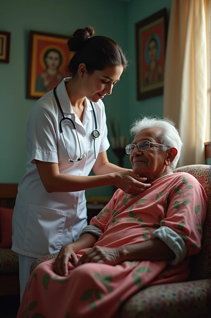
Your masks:
<path fill-rule="evenodd" d="M 148 140 L 161 144 L 160 136 L 161 130 L 158 128 L 147 128 L 137 133 L 132 143 L 136 145 L 141 141 Z M 138 146 L 136 146 L 130 155 L 130 162 L 133 172 L 137 175 L 157 176 L 165 170 L 166 157 L 167 152 L 162 150 L 162 146 L 150 144 L 150 148 L 145 151 L 140 151 Z"/>

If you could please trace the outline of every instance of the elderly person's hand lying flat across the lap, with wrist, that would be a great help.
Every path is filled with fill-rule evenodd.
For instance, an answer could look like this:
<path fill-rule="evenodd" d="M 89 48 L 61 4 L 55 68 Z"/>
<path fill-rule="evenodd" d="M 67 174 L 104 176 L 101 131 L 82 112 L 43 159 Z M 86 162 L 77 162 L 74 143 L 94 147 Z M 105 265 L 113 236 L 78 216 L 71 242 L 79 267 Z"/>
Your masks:
<path fill-rule="evenodd" d="M 78 261 L 78 266 L 85 263 L 104 263 L 117 265 L 122 263 L 123 255 L 119 247 L 94 246 L 91 250 L 85 252 Z"/>

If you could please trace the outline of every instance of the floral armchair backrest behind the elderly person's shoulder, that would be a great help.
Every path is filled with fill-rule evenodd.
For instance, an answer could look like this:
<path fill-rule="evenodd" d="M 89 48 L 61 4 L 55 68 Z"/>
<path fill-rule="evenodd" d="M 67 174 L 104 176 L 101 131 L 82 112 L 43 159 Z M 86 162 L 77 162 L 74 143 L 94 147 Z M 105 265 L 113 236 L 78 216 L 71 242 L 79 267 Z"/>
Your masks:
<path fill-rule="evenodd" d="M 199 181 L 207 194 L 207 217 L 204 223 L 201 251 L 191 257 L 190 279 L 211 279 L 211 166 L 194 164 L 177 168 L 174 172 L 190 173 Z"/>

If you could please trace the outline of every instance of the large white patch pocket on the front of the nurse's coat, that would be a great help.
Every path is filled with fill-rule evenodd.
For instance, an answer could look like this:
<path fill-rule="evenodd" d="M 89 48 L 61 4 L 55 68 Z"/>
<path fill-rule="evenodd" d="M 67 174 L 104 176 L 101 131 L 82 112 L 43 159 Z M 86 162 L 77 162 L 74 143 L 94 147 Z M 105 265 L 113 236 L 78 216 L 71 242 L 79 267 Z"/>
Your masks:
<path fill-rule="evenodd" d="M 59 252 L 66 214 L 66 211 L 29 204 L 24 250 L 41 255 Z"/>

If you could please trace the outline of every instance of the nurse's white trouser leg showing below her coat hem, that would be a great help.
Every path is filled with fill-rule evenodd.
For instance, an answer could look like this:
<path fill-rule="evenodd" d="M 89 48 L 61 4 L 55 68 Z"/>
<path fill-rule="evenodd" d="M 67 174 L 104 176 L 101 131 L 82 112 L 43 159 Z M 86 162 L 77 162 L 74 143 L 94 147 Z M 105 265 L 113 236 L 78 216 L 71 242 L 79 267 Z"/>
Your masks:
<path fill-rule="evenodd" d="M 19 259 L 19 280 L 20 280 L 20 300 L 23 297 L 26 284 L 30 276 L 30 267 L 36 258 L 18 254 Z"/>

